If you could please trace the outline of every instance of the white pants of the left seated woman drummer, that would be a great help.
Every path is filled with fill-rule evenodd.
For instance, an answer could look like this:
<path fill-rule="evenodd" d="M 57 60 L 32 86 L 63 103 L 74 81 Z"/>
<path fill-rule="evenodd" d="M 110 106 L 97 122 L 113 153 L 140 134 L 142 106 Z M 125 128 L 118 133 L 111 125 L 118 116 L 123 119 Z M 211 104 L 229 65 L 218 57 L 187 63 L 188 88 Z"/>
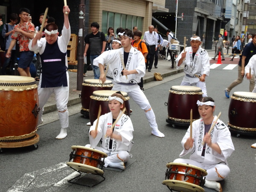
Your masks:
<path fill-rule="evenodd" d="M 90 144 L 87 144 L 85 145 L 86 147 L 90 147 Z M 99 151 L 102 151 L 104 153 L 106 153 L 106 149 L 103 148 L 103 147 L 95 147 L 95 149 L 99 150 Z M 106 153 L 108 155 L 108 157 L 105 158 L 104 162 L 105 162 L 105 167 L 108 167 L 108 164 L 109 163 L 119 163 L 119 162 L 124 162 L 126 163 L 129 159 L 129 153 L 127 151 L 124 151 L 124 150 L 120 150 L 120 151 L 117 151 L 117 153 L 115 154 L 111 154 L 110 152 L 109 153 Z"/>

